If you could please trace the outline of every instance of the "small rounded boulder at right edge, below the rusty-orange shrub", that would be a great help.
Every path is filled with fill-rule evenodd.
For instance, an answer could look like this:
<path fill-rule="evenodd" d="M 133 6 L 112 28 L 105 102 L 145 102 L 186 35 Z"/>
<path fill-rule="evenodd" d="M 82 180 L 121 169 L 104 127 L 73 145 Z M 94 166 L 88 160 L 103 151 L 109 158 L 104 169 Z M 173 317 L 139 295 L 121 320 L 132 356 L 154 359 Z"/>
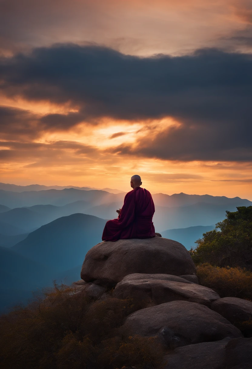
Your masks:
<path fill-rule="evenodd" d="M 231 323 L 252 320 L 252 302 L 237 297 L 223 297 L 211 304 L 211 309 Z"/>

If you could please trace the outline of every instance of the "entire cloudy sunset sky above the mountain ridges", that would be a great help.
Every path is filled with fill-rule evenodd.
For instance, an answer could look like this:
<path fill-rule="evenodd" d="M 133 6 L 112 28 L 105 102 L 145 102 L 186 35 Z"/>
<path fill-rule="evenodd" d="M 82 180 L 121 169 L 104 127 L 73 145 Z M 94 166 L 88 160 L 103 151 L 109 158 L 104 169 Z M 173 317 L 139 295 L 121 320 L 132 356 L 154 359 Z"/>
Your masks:
<path fill-rule="evenodd" d="M 252 3 L 0 0 L 0 182 L 252 200 Z"/>

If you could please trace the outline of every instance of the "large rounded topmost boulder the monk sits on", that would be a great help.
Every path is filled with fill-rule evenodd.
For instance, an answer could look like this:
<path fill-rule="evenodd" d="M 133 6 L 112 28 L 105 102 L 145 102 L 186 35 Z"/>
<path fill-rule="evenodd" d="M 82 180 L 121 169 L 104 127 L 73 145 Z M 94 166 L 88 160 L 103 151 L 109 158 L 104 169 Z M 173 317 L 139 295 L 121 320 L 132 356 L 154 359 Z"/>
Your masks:
<path fill-rule="evenodd" d="M 196 274 L 189 252 L 179 242 L 154 237 L 105 241 L 85 256 L 81 279 L 100 284 L 120 282 L 132 273 Z"/>

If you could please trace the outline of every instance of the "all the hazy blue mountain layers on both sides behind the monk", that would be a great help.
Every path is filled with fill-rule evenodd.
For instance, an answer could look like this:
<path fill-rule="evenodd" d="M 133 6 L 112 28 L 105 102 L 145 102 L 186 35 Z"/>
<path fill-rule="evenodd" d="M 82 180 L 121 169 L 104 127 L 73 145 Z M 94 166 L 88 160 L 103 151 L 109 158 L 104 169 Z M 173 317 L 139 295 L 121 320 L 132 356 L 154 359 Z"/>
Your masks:
<path fill-rule="evenodd" d="M 101 241 L 106 220 L 117 217 L 125 196 L 89 187 L 4 185 L 0 183 L 1 311 L 25 303 L 32 290 L 50 287 L 53 280 L 79 279 L 86 252 Z M 252 205 L 239 197 L 184 193 L 153 194 L 153 200 L 155 230 L 188 249 L 225 218 L 226 210 Z"/>

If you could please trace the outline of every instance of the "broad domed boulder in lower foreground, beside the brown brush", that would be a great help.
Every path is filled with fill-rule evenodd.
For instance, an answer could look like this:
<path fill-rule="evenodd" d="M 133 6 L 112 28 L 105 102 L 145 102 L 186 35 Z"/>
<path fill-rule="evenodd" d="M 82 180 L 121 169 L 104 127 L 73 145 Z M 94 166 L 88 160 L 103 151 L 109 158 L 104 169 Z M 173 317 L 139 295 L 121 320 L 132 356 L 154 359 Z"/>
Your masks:
<path fill-rule="evenodd" d="M 241 331 L 220 314 L 188 301 L 172 301 L 138 310 L 127 317 L 122 327 L 129 336 L 159 336 L 166 328 L 178 338 L 179 346 L 242 337 Z"/>

